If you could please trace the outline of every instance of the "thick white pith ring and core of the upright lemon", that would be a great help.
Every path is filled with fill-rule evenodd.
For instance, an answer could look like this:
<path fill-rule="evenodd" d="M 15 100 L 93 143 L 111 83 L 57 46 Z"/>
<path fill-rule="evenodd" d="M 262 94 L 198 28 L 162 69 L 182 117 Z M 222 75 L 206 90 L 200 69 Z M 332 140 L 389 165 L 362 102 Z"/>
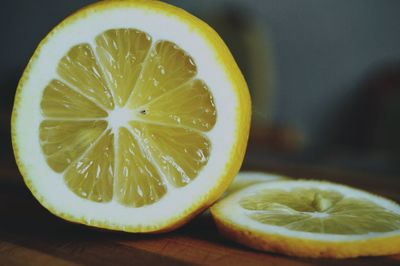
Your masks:
<path fill-rule="evenodd" d="M 205 133 L 211 143 L 211 152 L 208 164 L 197 178 L 183 188 L 174 189 L 168 186 L 167 194 L 160 201 L 140 208 L 127 208 L 114 200 L 109 203 L 95 203 L 76 196 L 64 184 L 62 174 L 54 172 L 48 166 L 39 143 L 39 125 L 45 119 L 40 111 L 40 101 L 46 85 L 52 79 L 59 78 L 56 69 L 60 59 L 76 44 L 89 43 L 95 47 L 97 35 L 118 28 L 138 29 L 148 33 L 153 43 L 169 40 L 185 50 L 195 60 L 197 78 L 208 85 L 218 114 L 214 128 Z M 87 224 L 104 223 L 119 228 L 158 228 L 160 224 L 188 212 L 194 202 L 207 197 L 226 172 L 225 167 L 233 149 L 232 143 L 239 130 L 236 121 L 238 99 L 232 86 L 224 66 L 218 61 L 215 48 L 199 32 L 177 17 L 131 5 L 80 16 L 73 23 L 68 23 L 52 33 L 31 64 L 29 77 L 20 91 L 18 113 L 14 121 L 14 139 L 20 163 L 27 173 L 25 178 L 43 202 L 60 214 L 75 217 Z M 131 110 L 122 108 L 110 112 L 106 119 L 109 126 L 115 130 L 125 125 L 128 111 Z M 129 121 L 131 120 L 132 116 Z"/>

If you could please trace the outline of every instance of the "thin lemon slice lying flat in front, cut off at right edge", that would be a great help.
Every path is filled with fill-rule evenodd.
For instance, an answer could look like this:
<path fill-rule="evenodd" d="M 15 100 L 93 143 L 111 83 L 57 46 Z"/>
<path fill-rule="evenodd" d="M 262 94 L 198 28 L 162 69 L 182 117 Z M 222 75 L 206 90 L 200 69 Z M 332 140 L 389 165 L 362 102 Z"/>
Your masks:
<path fill-rule="evenodd" d="M 400 206 L 318 181 L 259 183 L 211 207 L 222 234 L 244 245 L 300 257 L 400 252 Z"/>

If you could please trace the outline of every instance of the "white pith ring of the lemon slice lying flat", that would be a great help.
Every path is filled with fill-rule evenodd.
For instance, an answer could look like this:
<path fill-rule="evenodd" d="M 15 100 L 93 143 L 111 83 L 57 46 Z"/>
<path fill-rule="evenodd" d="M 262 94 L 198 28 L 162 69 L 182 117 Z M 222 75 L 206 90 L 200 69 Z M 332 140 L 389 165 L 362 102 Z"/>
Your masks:
<path fill-rule="evenodd" d="M 352 189 L 346 186 L 319 182 L 319 181 L 273 181 L 267 183 L 259 183 L 249 186 L 243 190 L 233 193 L 223 200 L 215 204 L 213 209 L 213 214 L 215 214 L 218 219 L 226 221 L 228 223 L 235 224 L 246 230 L 252 231 L 255 234 L 269 234 L 269 235 L 281 235 L 299 239 L 311 239 L 320 240 L 325 242 L 344 242 L 344 241 L 359 241 L 371 238 L 384 238 L 391 236 L 399 236 L 400 230 L 395 230 L 386 233 L 369 233 L 369 234 L 357 234 L 357 235 L 339 235 L 339 234 L 327 234 L 327 233 L 309 233 L 300 232 L 287 229 L 283 226 L 274 226 L 264 223 L 257 222 L 249 217 L 249 213 L 252 211 L 243 209 L 240 205 L 240 201 L 250 195 L 256 194 L 258 191 L 265 189 L 279 189 L 290 191 L 294 188 L 317 188 L 321 190 L 331 190 L 336 191 L 344 196 L 353 197 L 357 199 L 366 199 L 374 202 L 375 204 L 382 206 L 385 209 L 393 211 L 400 215 L 400 206 L 390 200 L 372 195 L 370 193 Z M 308 213 L 310 214 L 310 213 Z M 328 214 L 316 212 L 312 213 L 314 217 L 323 218 Z"/>

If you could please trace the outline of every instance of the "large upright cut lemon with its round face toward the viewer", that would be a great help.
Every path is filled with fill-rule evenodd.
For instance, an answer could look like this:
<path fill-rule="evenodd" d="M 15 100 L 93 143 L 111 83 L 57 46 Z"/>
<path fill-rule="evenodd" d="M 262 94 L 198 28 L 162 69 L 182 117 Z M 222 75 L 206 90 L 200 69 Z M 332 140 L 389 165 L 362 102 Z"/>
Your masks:
<path fill-rule="evenodd" d="M 240 70 L 204 22 L 158 1 L 101 1 L 35 51 L 15 97 L 14 153 L 55 215 L 167 231 L 227 188 L 250 110 Z"/>

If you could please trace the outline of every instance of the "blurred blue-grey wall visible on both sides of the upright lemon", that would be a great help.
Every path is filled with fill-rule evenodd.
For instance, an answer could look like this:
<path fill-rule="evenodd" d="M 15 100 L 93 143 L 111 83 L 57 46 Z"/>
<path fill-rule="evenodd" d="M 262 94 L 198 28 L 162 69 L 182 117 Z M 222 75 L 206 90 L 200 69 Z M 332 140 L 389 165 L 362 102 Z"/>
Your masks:
<path fill-rule="evenodd" d="M 8 118 L 15 87 L 35 47 L 59 21 L 91 2 L 95 1 L 15 0 L 3 3 L 0 9 L 2 139 L 9 137 Z M 272 123 L 294 127 L 306 136 L 310 147 L 329 142 L 327 136 L 337 125 L 334 117 L 356 94 L 358 85 L 370 71 L 400 61 L 400 1 L 167 2 L 206 21 L 233 6 L 232 10 L 243 13 L 244 21 L 261 23 L 273 52 L 271 60 L 275 65 L 276 82 L 273 93 L 266 94 L 269 97 L 266 102 L 270 104 L 265 109 L 258 106 L 255 113 L 268 112 Z M 209 22 L 216 23 L 215 20 Z M 9 141 L 1 145 L 2 150 L 9 152 Z"/>

